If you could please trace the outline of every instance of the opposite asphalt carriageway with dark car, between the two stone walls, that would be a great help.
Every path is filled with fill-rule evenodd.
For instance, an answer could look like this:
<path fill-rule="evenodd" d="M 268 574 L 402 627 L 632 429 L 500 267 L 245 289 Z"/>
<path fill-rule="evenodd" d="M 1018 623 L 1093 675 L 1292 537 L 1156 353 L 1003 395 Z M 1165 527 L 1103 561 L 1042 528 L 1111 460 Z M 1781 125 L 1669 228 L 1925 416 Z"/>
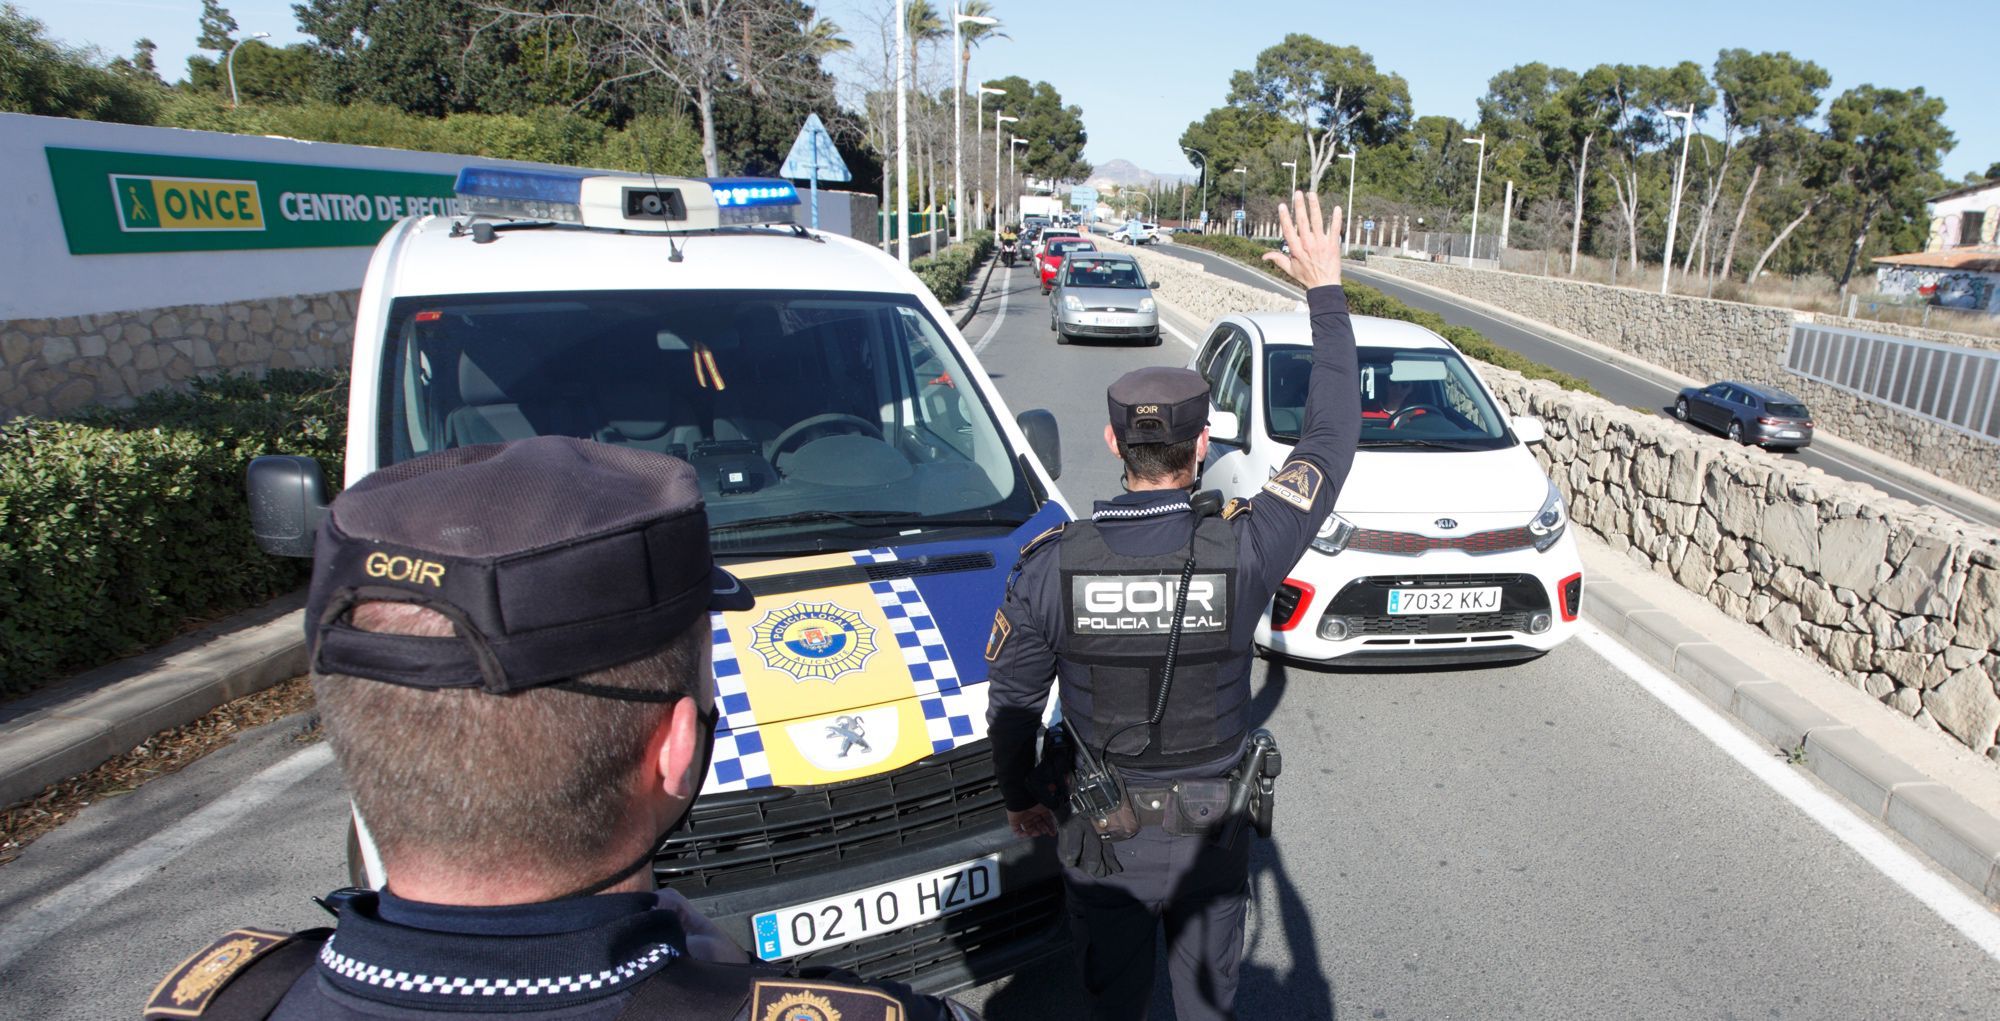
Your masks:
<path fill-rule="evenodd" d="M 1150 246 L 1148 252 L 1190 258 L 1194 262 L 1200 262 L 1202 266 L 1208 266 L 1208 272 L 1226 276 L 1230 280 L 1240 280 L 1278 294 L 1300 296 L 1298 288 L 1280 284 L 1272 280 L 1268 274 L 1252 270 L 1216 252 L 1190 248 L 1186 244 L 1156 244 Z M 1438 298 L 1422 288 L 1398 280 L 1396 276 L 1370 272 L 1366 266 L 1348 266 L 1346 272 L 1358 284 L 1368 284 L 1392 298 L 1402 300 L 1404 304 L 1436 312 L 1444 316 L 1446 322 L 1458 326 L 1472 326 L 1474 330 L 1480 330 L 1500 346 L 1512 348 L 1560 372 L 1586 378 L 1590 380 L 1592 386 L 1598 388 L 1600 394 L 1604 394 L 1608 400 L 1616 404 L 1624 404 L 1628 408 L 1656 410 L 1660 414 L 1672 414 L 1674 410 L 1674 396 L 1680 392 L 1678 388 L 1660 386 L 1658 382 L 1652 382 L 1650 378 L 1640 376 L 1620 364 L 1602 360 L 1594 354 L 1582 352 L 1560 340 L 1552 340 L 1550 336 L 1524 330 L 1516 326 L 1512 320 L 1490 316 L 1486 312 L 1480 312 L 1478 308 L 1448 298 Z M 1706 432 L 1696 424 L 1684 424 L 1684 428 Z M 1808 446 L 1804 450 L 1784 450 L 1784 452 L 1770 450 L 1770 452 L 1772 456 L 1784 456 L 1800 460 L 1804 464 L 1812 464 L 1814 468 L 1820 468 L 1826 474 L 1852 478 L 1856 482 L 1868 482 L 1900 500 L 1910 500 L 1914 504 L 1942 506 L 1958 517 L 1982 525 L 2000 525 L 2000 517 L 1994 517 L 1990 510 L 1984 510 L 1980 506 L 1970 506 L 1960 500 L 1952 500 L 1932 492 L 1910 488 L 1902 482 L 1896 482 L 1894 478 L 1884 478 L 1882 474 L 1868 470 L 1866 464 L 1856 464 L 1824 448 Z"/>

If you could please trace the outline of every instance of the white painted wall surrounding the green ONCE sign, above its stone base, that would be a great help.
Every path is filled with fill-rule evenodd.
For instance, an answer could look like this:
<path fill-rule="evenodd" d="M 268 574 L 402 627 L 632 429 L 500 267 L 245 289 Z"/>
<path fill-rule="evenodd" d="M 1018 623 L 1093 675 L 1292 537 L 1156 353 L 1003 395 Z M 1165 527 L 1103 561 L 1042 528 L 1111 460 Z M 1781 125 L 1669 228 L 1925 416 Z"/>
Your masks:
<path fill-rule="evenodd" d="M 70 254 L 46 146 L 430 174 L 456 174 L 464 166 L 542 166 L 440 152 L 0 114 L 0 194 L 6 196 L 0 202 L 0 238 L 4 238 L 0 320 L 324 294 L 358 288 L 368 268 L 370 246 Z M 808 216 L 810 212 L 800 208 L 800 220 Z M 822 188 L 820 228 L 850 234 L 852 220 L 848 196 Z"/>

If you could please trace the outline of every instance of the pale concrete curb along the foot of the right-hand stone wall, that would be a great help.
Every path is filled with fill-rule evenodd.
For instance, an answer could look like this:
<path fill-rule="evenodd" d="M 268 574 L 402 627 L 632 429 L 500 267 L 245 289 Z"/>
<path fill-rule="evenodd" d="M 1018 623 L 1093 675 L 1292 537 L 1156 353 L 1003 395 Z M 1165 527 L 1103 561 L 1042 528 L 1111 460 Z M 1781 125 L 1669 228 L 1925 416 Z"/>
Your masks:
<path fill-rule="evenodd" d="M 1616 583 L 1584 587 L 1584 617 L 1882 821 L 2000 905 L 2000 819 Z"/>

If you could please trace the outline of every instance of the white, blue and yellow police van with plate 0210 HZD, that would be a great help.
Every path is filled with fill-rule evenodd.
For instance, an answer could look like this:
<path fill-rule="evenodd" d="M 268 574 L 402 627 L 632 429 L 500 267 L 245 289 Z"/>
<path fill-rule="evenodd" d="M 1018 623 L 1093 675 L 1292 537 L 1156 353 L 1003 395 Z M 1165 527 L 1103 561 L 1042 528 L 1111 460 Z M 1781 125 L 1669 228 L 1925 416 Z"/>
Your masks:
<path fill-rule="evenodd" d="M 468 168 L 458 194 L 368 264 L 346 480 L 540 434 L 694 464 L 758 599 L 710 619 L 714 757 L 660 883 L 764 961 L 928 991 L 1060 949 L 982 655 L 1016 551 L 1068 519 L 1054 416 L 1010 418 L 916 276 L 800 226 L 782 180 Z M 312 462 L 260 458 L 250 498 L 266 551 L 310 557 Z M 364 819 L 350 865 L 382 883 Z"/>

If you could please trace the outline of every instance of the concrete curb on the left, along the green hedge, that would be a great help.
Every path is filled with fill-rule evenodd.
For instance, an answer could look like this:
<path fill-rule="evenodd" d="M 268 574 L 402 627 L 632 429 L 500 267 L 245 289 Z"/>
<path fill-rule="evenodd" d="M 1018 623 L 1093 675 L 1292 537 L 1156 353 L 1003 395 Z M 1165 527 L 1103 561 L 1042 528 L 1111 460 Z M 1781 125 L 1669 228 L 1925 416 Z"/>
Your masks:
<path fill-rule="evenodd" d="M 306 673 L 302 605 L 304 593 L 294 593 L 204 637 L 78 675 L 62 691 L 82 695 L 66 701 L 56 701 L 56 691 L 16 703 L 24 711 L 0 723 L 0 805 L 32 799 L 160 731 Z M 254 623 L 246 627 L 246 619 Z"/>

